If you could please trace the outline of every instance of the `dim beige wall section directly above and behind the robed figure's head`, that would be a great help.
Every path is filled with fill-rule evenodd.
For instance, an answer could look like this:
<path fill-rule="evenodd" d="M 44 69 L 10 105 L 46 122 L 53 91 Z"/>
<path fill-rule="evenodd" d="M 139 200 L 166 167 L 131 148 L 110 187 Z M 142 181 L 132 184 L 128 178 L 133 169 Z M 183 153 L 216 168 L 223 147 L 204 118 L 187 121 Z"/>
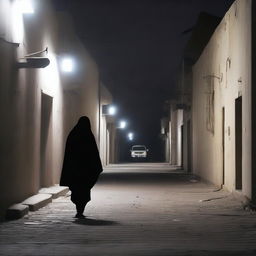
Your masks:
<path fill-rule="evenodd" d="M 74 60 L 74 71 L 60 71 L 64 93 L 64 128 L 70 131 L 80 116 L 90 118 L 91 128 L 99 140 L 99 73 L 95 61 L 77 37 L 72 19 L 66 13 L 57 13 L 58 59 L 70 57 Z"/>

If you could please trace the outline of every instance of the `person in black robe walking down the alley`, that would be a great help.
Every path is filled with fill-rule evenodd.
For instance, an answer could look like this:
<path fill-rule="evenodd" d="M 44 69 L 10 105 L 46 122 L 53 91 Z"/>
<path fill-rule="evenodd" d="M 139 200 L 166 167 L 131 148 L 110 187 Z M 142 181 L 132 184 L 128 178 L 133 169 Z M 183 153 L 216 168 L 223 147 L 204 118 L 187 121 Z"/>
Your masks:
<path fill-rule="evenodd" d="M 68 135 L 60 178 L 60 185 L 68 186 L 71 190 L 71 201 L 76 205 L 77 218 L 85 217 L 83 212 L 91 200 L 91 188 L 102 170 L 90 120 L 82 116 Z"/>

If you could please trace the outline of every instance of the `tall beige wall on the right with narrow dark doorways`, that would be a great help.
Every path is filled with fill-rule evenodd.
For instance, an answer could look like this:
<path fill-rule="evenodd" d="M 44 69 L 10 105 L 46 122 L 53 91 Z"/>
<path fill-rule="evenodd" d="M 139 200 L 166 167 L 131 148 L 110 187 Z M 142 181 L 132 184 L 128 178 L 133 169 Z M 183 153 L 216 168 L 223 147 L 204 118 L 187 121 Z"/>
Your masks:
<path fill-rule="evenodd" d="M 242 96 L 242 193 L 249 198 L 251 4 L 251 0 L 234 2 L 217 27 L 193 67 L 192 100 L 193 171 L 208 181 L 217 185 L 224 182 L 227 189 L 235 190 L 235 100 Z"/>

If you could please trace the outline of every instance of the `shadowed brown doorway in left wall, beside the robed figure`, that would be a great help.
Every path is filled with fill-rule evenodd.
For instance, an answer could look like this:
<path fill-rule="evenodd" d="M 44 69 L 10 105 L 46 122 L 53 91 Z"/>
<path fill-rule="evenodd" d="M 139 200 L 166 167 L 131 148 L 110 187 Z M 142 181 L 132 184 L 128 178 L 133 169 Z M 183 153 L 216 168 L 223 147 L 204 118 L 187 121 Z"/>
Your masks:
<path fill-rule="evenodd" d="M 49 186 L 52 179 L 52 101 L 41 93 L 40 187 Z"/>

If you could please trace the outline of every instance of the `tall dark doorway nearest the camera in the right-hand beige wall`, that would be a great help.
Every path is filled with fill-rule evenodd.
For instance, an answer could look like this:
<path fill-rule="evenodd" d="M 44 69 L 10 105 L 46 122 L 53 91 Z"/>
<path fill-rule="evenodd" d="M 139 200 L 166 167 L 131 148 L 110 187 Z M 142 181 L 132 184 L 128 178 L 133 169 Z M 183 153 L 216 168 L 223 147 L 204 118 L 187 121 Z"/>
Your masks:
<path fill-rule="evenodd" d="M 236 189 L 242 189 L 242 97 L 235 101 Z"/>

